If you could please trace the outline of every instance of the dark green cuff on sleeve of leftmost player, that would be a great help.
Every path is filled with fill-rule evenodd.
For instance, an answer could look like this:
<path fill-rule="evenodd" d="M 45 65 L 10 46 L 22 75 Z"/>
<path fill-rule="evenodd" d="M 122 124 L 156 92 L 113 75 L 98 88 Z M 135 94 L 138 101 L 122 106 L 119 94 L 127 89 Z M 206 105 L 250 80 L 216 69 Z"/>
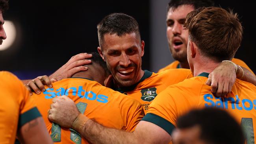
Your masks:
<path fill-rule="evenodd" d="M 20 114 L 18 128 L 22 127 L 27 122 L 30 122 L 31 120 L 38 118 L 40 116 L 41 114 L 39 113 L 37 107 L 33 107 L 32 109 L 26 111 L 25 113 Z"/>

